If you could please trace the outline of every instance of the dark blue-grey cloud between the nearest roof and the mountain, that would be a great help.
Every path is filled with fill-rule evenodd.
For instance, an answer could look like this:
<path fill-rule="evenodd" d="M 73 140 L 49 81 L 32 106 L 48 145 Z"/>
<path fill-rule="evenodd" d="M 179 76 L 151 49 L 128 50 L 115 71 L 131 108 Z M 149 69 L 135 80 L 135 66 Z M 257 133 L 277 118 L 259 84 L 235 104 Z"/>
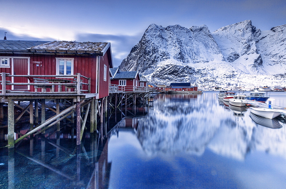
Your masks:
<path fill-rule="evenodd" d="M 113 56 L 113 64 L 119 66 L 122 60 L 129 54 L 130 50 L 136 45 L 143 34 L 134 36 L 110 35 L 110 34 L 77 34 L 76 40 L 80 42 L 110 42 Z"/>

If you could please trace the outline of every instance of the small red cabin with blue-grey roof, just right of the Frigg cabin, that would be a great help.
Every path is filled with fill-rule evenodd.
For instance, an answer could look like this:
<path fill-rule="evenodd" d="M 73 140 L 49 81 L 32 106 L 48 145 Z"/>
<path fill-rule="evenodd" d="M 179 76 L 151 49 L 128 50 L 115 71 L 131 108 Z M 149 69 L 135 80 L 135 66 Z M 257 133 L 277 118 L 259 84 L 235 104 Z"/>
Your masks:
<path fill-rule="evenodd" d="M 118 85 L 118 90 L 134 91 L 139 86 L 139 74 L 138 71 L 133 72 L 121 72 L 120 68 L 110 69 L 112 78 L 110 78 L 110 84 Z"/>

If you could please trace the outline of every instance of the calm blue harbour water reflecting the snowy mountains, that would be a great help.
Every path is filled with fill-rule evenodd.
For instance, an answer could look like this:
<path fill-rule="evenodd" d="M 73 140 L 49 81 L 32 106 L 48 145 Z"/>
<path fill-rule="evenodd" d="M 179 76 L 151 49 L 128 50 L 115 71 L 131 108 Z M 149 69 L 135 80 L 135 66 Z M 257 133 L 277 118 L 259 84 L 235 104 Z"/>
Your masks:
<path fill-rule="evenodd" d="M 286 125 L 217 94 L 154 95 L 153 106 L 86 133 L 80 148 L 69 125 L 1 148 L 0 188 L 285 188 Z M 270 96 L 286 107 L 286 93 Z"/>

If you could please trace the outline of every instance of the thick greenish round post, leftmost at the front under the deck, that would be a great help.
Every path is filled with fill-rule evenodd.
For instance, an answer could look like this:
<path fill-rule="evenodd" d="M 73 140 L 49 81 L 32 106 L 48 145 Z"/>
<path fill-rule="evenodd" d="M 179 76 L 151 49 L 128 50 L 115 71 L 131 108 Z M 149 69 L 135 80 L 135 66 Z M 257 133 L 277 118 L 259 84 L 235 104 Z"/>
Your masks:
<path fill-rule="evenodd" d="M 5 74 L 5 73 L 4 73 Z M 3 76 L 3 72 L 2 72 Z M 8 99 L 8 148 L 13 148 L 14 143 L 14 101 Z"/>

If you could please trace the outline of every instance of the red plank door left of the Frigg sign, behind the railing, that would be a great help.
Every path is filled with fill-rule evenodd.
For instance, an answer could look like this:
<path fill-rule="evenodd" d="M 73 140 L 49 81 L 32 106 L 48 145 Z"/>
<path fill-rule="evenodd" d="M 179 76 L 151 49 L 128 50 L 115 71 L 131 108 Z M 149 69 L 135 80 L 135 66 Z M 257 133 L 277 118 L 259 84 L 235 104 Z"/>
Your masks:
<path fill-rule="evenodd" d="M 28 59 L 14 58 L 14 75 L 28 75 Z M 27 83 L 26 77 L 14 77 L 14 83 Z M 14 90 L 27 90 L 28 85 L 14 85 Z"/>

